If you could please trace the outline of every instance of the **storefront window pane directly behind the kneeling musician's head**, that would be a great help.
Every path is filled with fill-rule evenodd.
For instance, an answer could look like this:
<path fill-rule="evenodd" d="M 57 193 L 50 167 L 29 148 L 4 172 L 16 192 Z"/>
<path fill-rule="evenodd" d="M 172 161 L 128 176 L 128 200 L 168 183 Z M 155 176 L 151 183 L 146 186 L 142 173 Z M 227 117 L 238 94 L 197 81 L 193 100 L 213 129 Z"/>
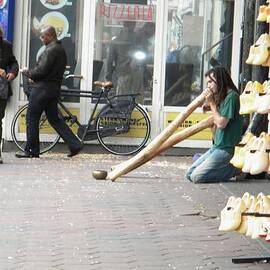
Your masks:
<path fill-rule="evenodd" d="M 168 9 L 165 106 L 187 106 L 201 92 L 201 76 L 212 66 L 230 69 L 232 36 L 205 55 L 233 28 L 232 0 L 172 0 Z"/>

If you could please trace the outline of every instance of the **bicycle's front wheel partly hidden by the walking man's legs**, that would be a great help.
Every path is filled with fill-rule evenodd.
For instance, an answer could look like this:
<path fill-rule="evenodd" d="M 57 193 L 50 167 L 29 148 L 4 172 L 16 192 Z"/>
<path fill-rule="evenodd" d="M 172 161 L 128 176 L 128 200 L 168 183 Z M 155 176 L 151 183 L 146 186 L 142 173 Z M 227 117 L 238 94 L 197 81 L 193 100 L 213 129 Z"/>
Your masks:
<path fill-rule="evenodd" d="M 11 123 L 11 136 L 16 146 L 24 151 L 26 145 L 26 112 L 28 104 L 24 105 L 15 114 Z M 60 136 L 49 124 L 45 113 L 42 113 L 39 120 L 39 145 L 40 154 L 51 150 L 59 141 Z"/>

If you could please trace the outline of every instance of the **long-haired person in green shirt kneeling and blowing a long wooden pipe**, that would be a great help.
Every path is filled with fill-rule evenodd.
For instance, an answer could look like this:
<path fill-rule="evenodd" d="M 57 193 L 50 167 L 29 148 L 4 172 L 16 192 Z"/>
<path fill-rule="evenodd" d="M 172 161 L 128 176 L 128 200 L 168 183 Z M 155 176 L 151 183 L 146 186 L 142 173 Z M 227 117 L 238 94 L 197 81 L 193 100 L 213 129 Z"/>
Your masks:
<path fill-rule="evenodd" d="M 207 88 L 203 95 L 214 117 L 214 142 L 187 171 L 187 179 L 194 183 L 226 181 L 235 176 L 238 170 L 230 160 L 242 136 L 239 93 L 229 72 L 217 66 L 207 71 L 205 77 Z"/>

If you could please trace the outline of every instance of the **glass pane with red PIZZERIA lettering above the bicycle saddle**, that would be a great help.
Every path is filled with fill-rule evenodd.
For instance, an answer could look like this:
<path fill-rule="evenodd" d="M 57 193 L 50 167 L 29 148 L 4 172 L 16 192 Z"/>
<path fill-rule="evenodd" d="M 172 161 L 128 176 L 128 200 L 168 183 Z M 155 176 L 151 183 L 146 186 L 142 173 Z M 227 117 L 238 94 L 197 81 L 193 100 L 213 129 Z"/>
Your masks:
<path fill-rule="evenodd" d="M 97 0 L 93 80 L 110 80 L 115 94 L 139 93 L 151 105 L 154 35 L 152 1 Z"/>

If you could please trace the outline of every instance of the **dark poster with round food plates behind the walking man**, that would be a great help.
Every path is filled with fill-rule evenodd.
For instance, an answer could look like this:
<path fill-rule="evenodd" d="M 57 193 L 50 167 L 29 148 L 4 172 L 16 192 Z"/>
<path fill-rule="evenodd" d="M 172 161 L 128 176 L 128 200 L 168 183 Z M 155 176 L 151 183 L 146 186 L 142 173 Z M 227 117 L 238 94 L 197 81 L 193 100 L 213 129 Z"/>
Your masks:
<path fill-rule="evenodd" d="M 74 72 L 75 31 L 76 31 L 76 0 L 36 0 L 31 4 L 31 35 L 29 67 L 33 68 L 44 51 L 45 46 L 40 40 L 40 30 L 48 25 L 54 26 L 57 38 L 65 47 L 68 56 L 70 73 Z"/>

